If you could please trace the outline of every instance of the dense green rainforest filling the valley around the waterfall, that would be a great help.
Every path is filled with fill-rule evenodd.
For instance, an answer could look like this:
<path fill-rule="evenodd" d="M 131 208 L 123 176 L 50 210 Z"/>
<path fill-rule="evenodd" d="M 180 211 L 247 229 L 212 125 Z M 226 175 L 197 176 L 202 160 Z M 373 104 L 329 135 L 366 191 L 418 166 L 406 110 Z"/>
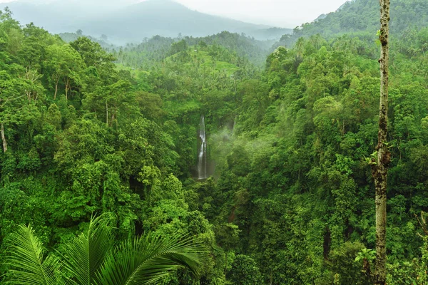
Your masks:
<path fill-rule="evenodd" d="M 392 25 L 388 284 L 428 281 L 428 25 L 414 23 L 402 35 Z M 259 71 L 254 46 L 230 33 L 108 53 L 2 13 L 1 254 L 30 223 L 66 254 L 93 214 L 112 213 L 116 244 L 178 233 L 210 252 L 197 276 L 181 268 L 162 284 L 369 284 L 379 106 L 369 30 L 306 35 Z M 207 180 L 194 178 L 201 115 Z"/>

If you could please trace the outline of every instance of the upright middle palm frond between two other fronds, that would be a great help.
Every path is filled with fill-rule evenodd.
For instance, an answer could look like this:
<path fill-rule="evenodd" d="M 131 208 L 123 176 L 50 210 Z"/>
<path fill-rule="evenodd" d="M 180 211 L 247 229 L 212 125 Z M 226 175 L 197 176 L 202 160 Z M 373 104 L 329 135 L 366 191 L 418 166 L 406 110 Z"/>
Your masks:
<path fill-rule="evenodd" d="M 70 281 L 78 285 L 96 284 L 97 273 L 113 247 L 113 240 L 108 219 L 92 218 L 88 230 L 66 245 L 63 262 Z"/>

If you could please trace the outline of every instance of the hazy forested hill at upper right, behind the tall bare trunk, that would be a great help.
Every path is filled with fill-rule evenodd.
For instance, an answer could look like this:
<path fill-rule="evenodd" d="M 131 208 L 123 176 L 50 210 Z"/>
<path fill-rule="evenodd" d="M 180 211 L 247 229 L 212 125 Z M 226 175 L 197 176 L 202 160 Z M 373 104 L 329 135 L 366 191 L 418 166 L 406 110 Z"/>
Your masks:
<path fill-rule="evenodd" d="M 298 38 L 320 33 L 325 38 L 343 34 L 370 38 L 374 41 L 379 30 L 378 2 L 372 0 L 352 0 L 327 15 L 322 15 L 312 23 L 296 27 L 292 35 L 282 37 L 275 46 L 290 46 Z M 391 1 L 391 35 L 392 38 L 409 33 L 414 27 L 428 25 L 428 1 L 396 0 Z"/>

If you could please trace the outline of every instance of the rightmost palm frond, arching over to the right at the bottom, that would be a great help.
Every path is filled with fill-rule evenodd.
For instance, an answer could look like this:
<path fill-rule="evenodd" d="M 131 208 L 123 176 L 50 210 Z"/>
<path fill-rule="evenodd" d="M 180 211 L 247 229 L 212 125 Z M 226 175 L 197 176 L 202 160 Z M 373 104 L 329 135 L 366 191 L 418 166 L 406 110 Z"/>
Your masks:
<path fill-rule="evenodd" d="M 146 236 L 124 242 L 108 256 L 99 284 L 153 284 L 179 266 L 187 266 L 198 274 L 207 251 L 194 238 L 181 238 Z"/>

